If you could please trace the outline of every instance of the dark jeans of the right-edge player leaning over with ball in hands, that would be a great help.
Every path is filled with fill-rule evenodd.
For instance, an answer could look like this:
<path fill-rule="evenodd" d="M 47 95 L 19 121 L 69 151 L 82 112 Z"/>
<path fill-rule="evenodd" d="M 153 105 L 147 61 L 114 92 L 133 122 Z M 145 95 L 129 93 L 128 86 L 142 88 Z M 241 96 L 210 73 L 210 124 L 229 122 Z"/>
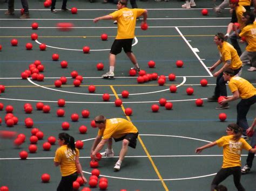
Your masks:
<path fill-rule="evenodd" d="M 248 99 L 241 99 L 241 101 L 237 104 L 237 124 L 242 128 L 244 134 L 246 129 L 249 128 L 246 115 L 251 105 L 254 103 L 256 103 L 256 95 Z"/>

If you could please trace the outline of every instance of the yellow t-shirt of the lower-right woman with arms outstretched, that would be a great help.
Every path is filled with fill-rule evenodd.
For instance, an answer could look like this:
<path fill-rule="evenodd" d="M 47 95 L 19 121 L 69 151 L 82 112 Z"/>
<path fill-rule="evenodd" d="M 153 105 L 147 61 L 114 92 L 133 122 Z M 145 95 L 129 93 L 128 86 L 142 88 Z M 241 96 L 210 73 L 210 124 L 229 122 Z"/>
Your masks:
<path fill-rule="evenodd" d="M 241 166 L 242 149 L 249 151 L 252 148 L 245 139 L 240 138 L 238 142 L 234 142 L 232 137 L 233 135 L 229 135 L 216 140 L 217 145 L 223 147 L 223 165 L 221 168 Z"/>

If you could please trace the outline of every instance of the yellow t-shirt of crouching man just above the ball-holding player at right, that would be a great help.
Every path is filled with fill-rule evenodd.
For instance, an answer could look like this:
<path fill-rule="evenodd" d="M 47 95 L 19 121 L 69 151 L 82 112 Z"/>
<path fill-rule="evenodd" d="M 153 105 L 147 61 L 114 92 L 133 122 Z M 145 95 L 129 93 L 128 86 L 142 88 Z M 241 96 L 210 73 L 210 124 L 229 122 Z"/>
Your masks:
<path fill-rule="evenodd" d="M 218 46 L 218 49 L 222 61 L 226 62 L 227 60 L 231 60 L 230 68 L 238 69 L 242 66 L 242 61 L 240 60 L 237 51 L 231 44 L 224 41 L 223 46 Z"/>

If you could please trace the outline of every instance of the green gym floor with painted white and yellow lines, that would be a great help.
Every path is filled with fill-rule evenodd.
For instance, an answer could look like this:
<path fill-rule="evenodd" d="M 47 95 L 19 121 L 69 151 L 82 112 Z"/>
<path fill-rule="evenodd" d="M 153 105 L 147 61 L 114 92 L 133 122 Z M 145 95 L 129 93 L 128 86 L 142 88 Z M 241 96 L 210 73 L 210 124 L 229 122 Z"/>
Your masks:
<path fill-rule="evenodd" d="M 112 3 L 103 4 L 100 0 L 90 3 L 85 0 L 68 1 L 68 8 L 77 7 L 78 14 L 61 12 L 62 1 L 57 1 L 57 14 L 44 8 L 42 0 L 29 1 L 30 19 L 19 19 L 21 2 L 15 1 L 15 15 L 5 16 L 7 4 L 0 1 L 0 84 L 5 86 L 5 92 L 0 94 L 0 102 L 14 106 L 14 115 L 19 122 L 12 128 L 4 123 L 5 111 L 0 111 L 3 119 L 0 130 L 16 131 L 26 135 L 25 143 L 19 147 L 13 145 L 13 140 L 0 139 L 0 187 L 8 186 L 9 190 L 56 190 L 60 181 L 59 167 L 53 165 L 53 157 L 58 145 L 52 145 L 50 151 L 43 151 L 42 145 L 49 136 L 58 137 L 64 132 L 61 124 L 70 123 L 70 129 L 65 131 L 76 140 L 83 140 L 84 147 L 80 150 L 80 163 L 86 178 L 89 180 L 90 148 L 97 129 L 90 122 L 97 115 L 107 118 L 122 117 L 132 121 L 137 126 L 140 136 L 136 150 L 129 148 L 119 172 L 113 171 L 113 165 L 118 159 L 121 143 L 114 143 L 116 153 L 114 158 L 103 158 L 99 162 L 100 176 L 109 179 L 107 190 L 210 190 L 211 181 L 221 168 L 222 149 L 209 148 L 201 154 L 195 154 L 197 147 L 225 136 L 226 126 L 236 122 L 236 104 L 231 102 L 227 110 L 215 110 L 217 103 L 207 102 L 206 98 L 213 95 L 215 78 L 209 67 L 219 58 L 217 47 L 213 43 L 214 34 L 226 32 L 230 22 L 230 14 L 226 9 L 222 15 L 213 12 L 212 1 L 196 1 L 194 9 L 181 9 L 182 1 L 147 2 L 138 1 L 139 8 L 147 9 L 149 29 L 142 31 L 137 22 L 136 40 L 132 50 L 137 56 L 140 68 L 147 73 L 158 73 L 168 76 L 176 74 L 175 81 L 166 80 L 164 86 L 158 86 L 157 81 L 138 84 L 136 77 L 129 76 L 132 67 L 124 52 L 117 55 L 115 68 L 116 78 L 105 80 L 100 76 L 109 69 L 109 48 L 116 36 L 117 26 L 111 20 L 100 20 L 93 23 L 95 17 L 106 15 L 116 10 Z M 216 4 L 220 4 L 218 0 Z M 129 4 L 130 6 L 130 4 Z M 201 9 L 208 9 L 208 16 L 201 15 Z M 38 30 L 32 30 L 31 24 L 37 22 Z M 59 31 L 57 23 L 73 23 L 73 30 Z M 30 38 L 31 33 L 38 34 L 38 40 Z M 100 35 L 108 34 L 107 41 L 102 41 Z M 18 46 L 11 46 L 10 40 L 16 38 Z M 25 48 L 26 43 L 32 43 L 32 50 Z M 48 47 L 39 50 L 39 44 Z M 89 54 L 84 54 L 83 46 L 90 46 Z M 245 48 L 241 45 L 242 49 Z M 51 55 L 58 53 L 59 61 L 52 61 Z M 41 60 L 45 69 L 44 81 L 32 79 L 22 80 L 21 73 L 29 68 L 30 63 Z M 60 61 L 68 61 L 68 68 L 61 68 Z M 147 62 L 154 60 L 156 67 L 149 68 Z M 183 60 L 182 68 L 176 67 L 176 60 Z M 104 63 L 104 70 L 98 71 L 98 62 Z M 245 66 L 242 77 L 256 84 L 255 72 L 248 72 Z M 77 70 L 84 77 L 80 87 L 73 86 L 70 73 Z M 67 84 L 60 88 L 54 86 L 55 80 L 66 76 Z M 200 80 L 207 79 L 206 87 L 200 86 Z M 96 86 L 95 93 L 89 93 L 89 85 Z M 170 93 L 169 87 L 176 85 L 177 93 Z M 191 96 L 186 94 L 186 88 L 193 87 Z M 228 88 L 227 88 L 228 89 Z M 123 90 L 128 90 L 129 98 L 122 98 Z M 110 94 L 110 101 L 104 102 L 102 95 Z M 228 95 L 231 95 L 228 90 Z M 116 98 L 122 98 L 123 107 L 115 107 Z M 173 103 L 172 110 L 160 107 L 158 112 L 151 111 L 152 104 L 158 104 L 164 97 Z M 57 117 L 59 109 L 57 100 L 63 98 L 66 105 L 64 117 Z M 203 98 L 203 107 L 197 107 L 195 100 Z M 43 102 L 51 107 L 49 114 L 36 110 L 36 103 Z M 32 114 L 25 114 L 23 105 L 33 106 Z M 132 108 L 133 114 L 125 116 L 124 109 Z M 89 118 L 82 118 L 83 109 L 90 111 Z M 256 105 L 248 112 L 249 123 L 255 116 Z M 219 114 L 225 112 L 225 122 L 219 121 Z M 71 114 L 80 115 L 78 122 L 72 122 Z M 31 117 L 34 127 L 43 131 L 44 138 L 37 143 L 36 153 L 29 153 L 26 160 L 19 159 L 20 151 L 28 151 L 31 129 L 25 128 L 24 119 Z M 78 128 L 87 126 L 87 133 L 82 135 Z M 242 165 L 245 164 L 247 152 L 242 153 Z M 241 182 L 246 190 L 255 190 L 256 167 L 250 174 L 242 175 Z M 51 176 L 49 183 L 41 182 L 41 175 Z M 223 185 L 228 190 L 235 190 L 232 176 Z M 85 186 L 89 186 L 88 184 Z M 83 187 L 85 187 L 83 186 Z M 83 187 L 80 187 L 82 190 Z M 99 188 L 91 188 L 99 190 Z"/>

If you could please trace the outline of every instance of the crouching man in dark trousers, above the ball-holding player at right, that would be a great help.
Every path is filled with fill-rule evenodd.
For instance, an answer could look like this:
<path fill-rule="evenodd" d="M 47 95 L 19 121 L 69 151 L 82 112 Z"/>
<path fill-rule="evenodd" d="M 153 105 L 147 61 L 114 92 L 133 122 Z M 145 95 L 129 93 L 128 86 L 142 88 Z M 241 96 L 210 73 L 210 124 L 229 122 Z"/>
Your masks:
<path fill-rule="evenodd" d="M 208 101 L 210 102 L 217 102 L 219 96 L 227 96 L 226 81 L 223 78 L 223 71 L 227 68 L 232 68 L 236 75 L 240 72 L 242 66 L 242 62 L 237 54 L 237 51 L 231 44 L 224 41 L 224 38 L 223 33 L 218 33 L 215 35 L 213 40 L 218 46 L 220 59 L 214 63 L 214 65 L 210 68 L 210 71 L 213 71 L 218 65 L 220 65 L 221 62 L 224 62 L 224 65 L 213 74 L 214 77 L 217 77 L 217 80 L 214 95 L 208 98 Z M 228 103 L 220 105 L 215 109 L 227 108 L 229 108 Z"/>

